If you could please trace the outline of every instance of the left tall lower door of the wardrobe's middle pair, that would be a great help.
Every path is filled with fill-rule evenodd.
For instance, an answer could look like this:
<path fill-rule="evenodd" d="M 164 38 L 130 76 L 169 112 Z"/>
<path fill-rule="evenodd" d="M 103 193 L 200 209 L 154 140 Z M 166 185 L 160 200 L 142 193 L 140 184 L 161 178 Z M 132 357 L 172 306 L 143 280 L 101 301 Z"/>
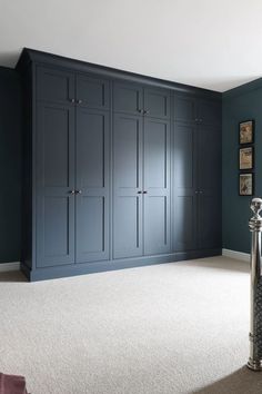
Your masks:
<path fill-rule="evenodd" d="M 113 257 L 142 255 L 142 119 L 114 114 Z"/>

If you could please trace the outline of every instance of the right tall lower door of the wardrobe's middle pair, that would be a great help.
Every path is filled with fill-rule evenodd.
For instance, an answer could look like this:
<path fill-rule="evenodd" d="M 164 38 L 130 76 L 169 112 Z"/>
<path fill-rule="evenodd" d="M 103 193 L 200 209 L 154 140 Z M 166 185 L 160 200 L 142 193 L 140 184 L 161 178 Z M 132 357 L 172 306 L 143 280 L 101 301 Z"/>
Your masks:
<path fill-rule="evenodd" d="M 144 254 L 170 252 L 170 124 L 144 119 Z"/>

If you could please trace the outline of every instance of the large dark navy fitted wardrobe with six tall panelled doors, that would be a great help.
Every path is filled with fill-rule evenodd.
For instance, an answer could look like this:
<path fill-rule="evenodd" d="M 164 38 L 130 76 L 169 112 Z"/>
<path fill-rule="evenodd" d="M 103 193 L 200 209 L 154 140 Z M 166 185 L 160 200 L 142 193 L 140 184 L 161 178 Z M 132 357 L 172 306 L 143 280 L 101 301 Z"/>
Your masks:
<path fill-rule="evenodd" d="M 30 280 L 221 254 L 221 95 L 24 49 Z"/>

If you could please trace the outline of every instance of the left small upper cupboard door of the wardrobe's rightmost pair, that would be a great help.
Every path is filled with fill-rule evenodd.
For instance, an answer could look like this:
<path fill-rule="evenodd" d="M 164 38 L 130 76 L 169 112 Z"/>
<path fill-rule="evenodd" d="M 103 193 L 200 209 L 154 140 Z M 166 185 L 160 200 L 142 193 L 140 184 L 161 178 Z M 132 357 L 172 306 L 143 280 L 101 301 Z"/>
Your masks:
<path fill-rule="evenodd" d="M 174 95 L 174 120 L 195 122 L 195 99 L 189 96 Z"/>

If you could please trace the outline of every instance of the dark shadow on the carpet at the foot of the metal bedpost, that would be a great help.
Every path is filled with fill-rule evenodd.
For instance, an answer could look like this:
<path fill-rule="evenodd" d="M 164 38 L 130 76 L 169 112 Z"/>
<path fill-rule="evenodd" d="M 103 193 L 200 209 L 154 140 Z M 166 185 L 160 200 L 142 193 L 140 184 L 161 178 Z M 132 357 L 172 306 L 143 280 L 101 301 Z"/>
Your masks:
<path fill-rule="evenodd" d="M 246 366 L 235 371 L 194 394 L 261 394 L 262 373 L 250 371 Z"/>

